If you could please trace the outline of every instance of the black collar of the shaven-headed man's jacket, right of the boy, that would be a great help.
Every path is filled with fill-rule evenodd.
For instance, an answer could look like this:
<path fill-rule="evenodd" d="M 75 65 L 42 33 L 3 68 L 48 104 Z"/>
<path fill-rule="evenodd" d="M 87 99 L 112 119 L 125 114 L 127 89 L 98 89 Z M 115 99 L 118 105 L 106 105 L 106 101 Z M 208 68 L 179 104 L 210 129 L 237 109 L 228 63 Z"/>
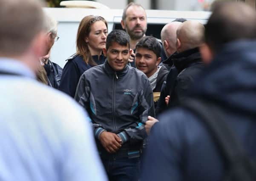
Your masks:
<path fill-rule="evenodd" d="M 201 55 L 198 47 L 178 54 L 173 54 L 170 58 L 173 60 L 173 64 L 177 68 L 178 72 L 181 72 L 191 64 L 201 62 Z"/>

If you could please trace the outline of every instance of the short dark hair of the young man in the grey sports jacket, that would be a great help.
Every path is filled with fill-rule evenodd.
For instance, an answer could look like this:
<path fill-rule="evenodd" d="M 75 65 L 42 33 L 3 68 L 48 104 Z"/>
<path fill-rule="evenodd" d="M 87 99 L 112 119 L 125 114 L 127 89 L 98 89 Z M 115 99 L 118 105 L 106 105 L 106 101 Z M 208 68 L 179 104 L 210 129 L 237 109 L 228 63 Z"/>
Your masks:
<path fill-rule="evenodd" d="M 106 50 L 112 45 L 113 42 L 118 43 L 122 46 L 127 46 L 130 48 L 130 37 L 123 30 L 113 30 L 106 37 Z"/>

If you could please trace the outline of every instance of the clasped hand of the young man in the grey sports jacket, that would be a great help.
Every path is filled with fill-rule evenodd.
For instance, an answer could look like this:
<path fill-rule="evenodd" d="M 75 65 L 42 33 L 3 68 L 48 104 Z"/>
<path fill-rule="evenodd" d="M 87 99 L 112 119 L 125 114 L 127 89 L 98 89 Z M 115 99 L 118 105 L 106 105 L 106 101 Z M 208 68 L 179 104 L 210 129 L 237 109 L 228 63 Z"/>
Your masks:
<path fill-rule="evenodd" d="M 114 133 L 103 131 L 100 135 L 101 145 L 109 153 L 115 153 L 119 148 L 121 148 L 122 140 L 119 136 Z"/>

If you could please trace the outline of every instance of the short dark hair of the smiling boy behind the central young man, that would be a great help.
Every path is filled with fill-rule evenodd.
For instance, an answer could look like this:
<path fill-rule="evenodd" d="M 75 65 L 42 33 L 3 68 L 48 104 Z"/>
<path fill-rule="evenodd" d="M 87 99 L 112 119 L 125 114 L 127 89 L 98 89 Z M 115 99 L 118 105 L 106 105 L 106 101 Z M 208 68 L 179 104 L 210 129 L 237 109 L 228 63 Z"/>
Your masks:
<path fill-rule="evenodd" d="M 146 48 L 155 53 L 156 57 L 161 56 L 161 45 L 158 40 L 152 36 L 144 36 L 136 45 L 137 48 Z"/>

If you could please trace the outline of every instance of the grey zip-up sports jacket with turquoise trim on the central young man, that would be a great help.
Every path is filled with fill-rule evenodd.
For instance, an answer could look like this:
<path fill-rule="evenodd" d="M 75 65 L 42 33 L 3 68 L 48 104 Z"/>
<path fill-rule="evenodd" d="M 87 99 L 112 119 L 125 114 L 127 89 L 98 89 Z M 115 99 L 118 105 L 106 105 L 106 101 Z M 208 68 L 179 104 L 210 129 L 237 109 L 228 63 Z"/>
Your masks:
<path fill-rule="evenodd" d="M 83 73 L 75 100 L 89 113 L 98 149 L 104 154 L 106 150 L 98 140 L 102 131 L 120 136 L 124 143 L 120 150 L 139 148 L 147 136 L 147 117 L 155 115 L 146 75 L 130 66 L 115 72 L 107 61 Z"/>

